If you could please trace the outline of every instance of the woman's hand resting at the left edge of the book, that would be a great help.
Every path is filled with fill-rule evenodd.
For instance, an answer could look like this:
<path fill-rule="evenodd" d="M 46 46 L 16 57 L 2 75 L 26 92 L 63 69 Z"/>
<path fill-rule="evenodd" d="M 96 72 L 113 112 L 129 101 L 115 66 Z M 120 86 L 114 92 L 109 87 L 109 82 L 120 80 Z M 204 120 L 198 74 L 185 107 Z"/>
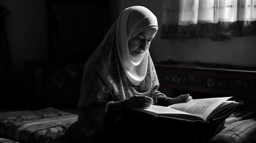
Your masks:
<path fill-rule="evenodd" d="M 153 105 L 153 99 L 144 95 L 134 95 L 124 101 L 124 109 L 131 110 L 132 108 L 148 108 Z"/>

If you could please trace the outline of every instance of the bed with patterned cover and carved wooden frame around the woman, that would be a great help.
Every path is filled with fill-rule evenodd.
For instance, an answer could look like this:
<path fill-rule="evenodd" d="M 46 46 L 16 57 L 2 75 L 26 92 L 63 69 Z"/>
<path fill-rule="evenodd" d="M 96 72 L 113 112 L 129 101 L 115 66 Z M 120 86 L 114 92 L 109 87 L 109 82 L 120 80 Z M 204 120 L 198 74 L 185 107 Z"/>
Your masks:
<path fill-rule="evenodd" d="M 256 142 L 256 72 L 155 64 L 160 88 L 170 97 L 189 92 L 193 98 L 234 96 L 244 101 L 209 143 Z M 0 113 L 0 143 L 69 143 L 67 128 L 78 115 L 48 107 Z"/>

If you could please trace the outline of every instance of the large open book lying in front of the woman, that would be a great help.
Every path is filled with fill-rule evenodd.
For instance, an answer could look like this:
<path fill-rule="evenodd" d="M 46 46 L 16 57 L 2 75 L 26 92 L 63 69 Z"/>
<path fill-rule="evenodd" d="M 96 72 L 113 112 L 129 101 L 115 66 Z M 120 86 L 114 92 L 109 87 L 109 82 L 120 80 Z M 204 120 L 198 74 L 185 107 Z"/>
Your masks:
<path fill-rule="evenodd" d="M 236 101 L 227 101 L 230 98 L 231 97 L 192 99 L 167 107 L 151 105 L 149 108 L 134 108 L 134 110 L 154 117 L 164 116 L 187 120 L 208 121 L 211 117 L 238 104 Z"/>

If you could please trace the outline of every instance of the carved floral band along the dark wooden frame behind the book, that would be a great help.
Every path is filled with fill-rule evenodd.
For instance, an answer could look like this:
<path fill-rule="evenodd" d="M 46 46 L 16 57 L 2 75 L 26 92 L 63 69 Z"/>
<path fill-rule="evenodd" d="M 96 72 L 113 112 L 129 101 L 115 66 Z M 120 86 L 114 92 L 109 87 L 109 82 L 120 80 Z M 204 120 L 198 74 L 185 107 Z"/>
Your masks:
<path fill-rule="evenodd" d="M 256 93 L 256 80 L 158 72 L 160 83 Z"/>

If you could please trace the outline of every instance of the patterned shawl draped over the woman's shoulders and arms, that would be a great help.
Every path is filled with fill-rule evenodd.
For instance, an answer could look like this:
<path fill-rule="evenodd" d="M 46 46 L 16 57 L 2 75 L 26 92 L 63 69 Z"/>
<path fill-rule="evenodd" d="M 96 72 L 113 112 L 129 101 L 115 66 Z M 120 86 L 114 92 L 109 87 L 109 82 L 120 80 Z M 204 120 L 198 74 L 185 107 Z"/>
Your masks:
<path fill-rule="evenodd" d="M 146 95 L 158 105 L 166 101 L 166 96 L 157 90 L 159 81 L 149 52 L 145 78 L 137 86 L 130 83 L 117 53 L 116 27 L 117 21 L 85 63 L 78 121 L 66 132 L 73 142 L 104 140 L 106 133 L 115 130 L 126 98 Z"/>

